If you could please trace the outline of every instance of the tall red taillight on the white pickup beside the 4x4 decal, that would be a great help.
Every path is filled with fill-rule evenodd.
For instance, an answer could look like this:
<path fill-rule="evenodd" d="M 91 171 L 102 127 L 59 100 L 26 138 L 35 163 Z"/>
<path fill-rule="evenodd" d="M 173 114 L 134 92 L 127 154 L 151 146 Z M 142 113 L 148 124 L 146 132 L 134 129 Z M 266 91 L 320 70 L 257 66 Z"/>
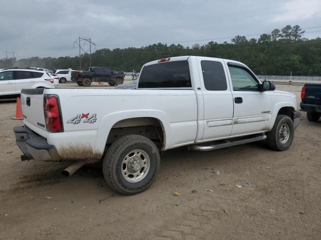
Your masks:
<path fill-rule="evenodd" d="M 47 131 L 62 131 L 62 119 L 57 95 L 44 96 L 44 113 Z"/>

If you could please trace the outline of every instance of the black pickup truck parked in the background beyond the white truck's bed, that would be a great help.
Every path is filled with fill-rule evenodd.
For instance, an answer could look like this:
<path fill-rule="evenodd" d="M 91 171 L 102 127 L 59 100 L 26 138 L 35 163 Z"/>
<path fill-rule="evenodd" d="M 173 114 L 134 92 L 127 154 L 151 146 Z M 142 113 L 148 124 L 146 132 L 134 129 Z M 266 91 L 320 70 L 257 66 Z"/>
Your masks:
<path fill-rule="evenodd" d="M 109 85 L 119 85 L 124 82 L 124 73 L 113 71 L 108 67 L 92 66 L 89 71 L 71 72 L 71 80 L 79 86 L 90 86 L 93 81 L 108 82 Z"/>

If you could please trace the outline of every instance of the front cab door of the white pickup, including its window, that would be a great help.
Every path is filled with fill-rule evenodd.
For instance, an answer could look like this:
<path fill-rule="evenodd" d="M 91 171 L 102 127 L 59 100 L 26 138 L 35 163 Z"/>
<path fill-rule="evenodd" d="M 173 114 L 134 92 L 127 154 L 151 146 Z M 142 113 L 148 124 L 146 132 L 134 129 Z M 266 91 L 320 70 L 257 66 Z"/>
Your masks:
<path fill-rule="evenodd" d="M 227 65 L 234 105 L 231 135 L 266 131 L 272 116 L 270 92 L 261 92 L 259 80 L 245 65 L 234 62 Z"/>

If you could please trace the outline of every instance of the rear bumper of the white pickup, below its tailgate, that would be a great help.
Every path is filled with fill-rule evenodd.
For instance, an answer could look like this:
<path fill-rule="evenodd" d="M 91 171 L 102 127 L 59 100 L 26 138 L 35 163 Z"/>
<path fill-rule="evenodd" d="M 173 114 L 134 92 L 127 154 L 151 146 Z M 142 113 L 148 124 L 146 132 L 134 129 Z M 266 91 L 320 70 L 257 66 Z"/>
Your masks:
<path fill-rule="evenodd" d="M 54 145 L 48 144 L 47 139 L 37 135 L 27 126 L 14 127 L 16 142 L 21 151 L 22 160 L 59 161 L 60 157 Z"/>

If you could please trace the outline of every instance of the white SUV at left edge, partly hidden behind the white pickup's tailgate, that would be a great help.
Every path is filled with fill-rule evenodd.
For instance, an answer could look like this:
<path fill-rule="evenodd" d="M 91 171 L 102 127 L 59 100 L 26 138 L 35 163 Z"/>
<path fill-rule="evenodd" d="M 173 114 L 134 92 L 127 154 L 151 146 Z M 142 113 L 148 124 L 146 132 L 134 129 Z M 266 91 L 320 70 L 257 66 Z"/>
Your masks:
<path fill-rule="evenodd" d="M 33 69 L 5 68 L 0 70 L 0 98 L 20 95 L 23 88 L 53 88 L 54 79 L 47 72 Z"/>

